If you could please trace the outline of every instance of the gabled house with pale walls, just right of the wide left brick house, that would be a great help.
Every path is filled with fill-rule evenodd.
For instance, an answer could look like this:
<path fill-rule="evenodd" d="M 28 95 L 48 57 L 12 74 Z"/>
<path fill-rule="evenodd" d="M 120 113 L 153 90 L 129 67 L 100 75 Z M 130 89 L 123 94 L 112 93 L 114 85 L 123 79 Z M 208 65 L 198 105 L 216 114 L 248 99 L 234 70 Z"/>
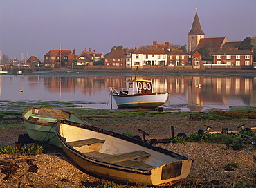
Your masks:
<path fill-rule="evenodd" d="M 87 51 L 84 49 L 80 55 L 77 56 L 77 66 L 86 66 L 93 65 L 93 62 L 97 62 L 100 59 L 103 59 L 104 55 L 102 53 L 95 53 L 95 51 L 91 51 L 91 48 Z"/>

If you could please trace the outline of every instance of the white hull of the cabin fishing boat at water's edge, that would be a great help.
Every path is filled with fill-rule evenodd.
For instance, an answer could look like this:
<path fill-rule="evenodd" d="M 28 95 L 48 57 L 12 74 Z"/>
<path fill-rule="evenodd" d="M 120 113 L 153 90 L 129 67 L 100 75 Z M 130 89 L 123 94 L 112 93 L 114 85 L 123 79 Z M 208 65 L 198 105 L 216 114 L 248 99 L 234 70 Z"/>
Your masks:
<path fill-rule="evenodd" d="M 165 103 L 168 93 L 144 93 L 135 95 L 117 95 L 111 93 L 119 109 L 145 108 L 155 109 Z"/>

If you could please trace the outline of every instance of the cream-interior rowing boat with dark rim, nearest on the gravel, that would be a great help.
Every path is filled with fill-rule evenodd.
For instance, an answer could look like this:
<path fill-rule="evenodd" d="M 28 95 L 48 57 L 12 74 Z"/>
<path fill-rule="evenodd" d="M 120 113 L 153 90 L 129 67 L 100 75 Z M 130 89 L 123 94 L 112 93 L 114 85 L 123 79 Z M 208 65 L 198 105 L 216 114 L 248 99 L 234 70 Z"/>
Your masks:
<path fill-rule="evenodd" d="M 89 124 L 60 120 L 57 138 L 66 155 L 97 176 L 141 185 L 172 185 L 190 173 L 192 159 Z"/>

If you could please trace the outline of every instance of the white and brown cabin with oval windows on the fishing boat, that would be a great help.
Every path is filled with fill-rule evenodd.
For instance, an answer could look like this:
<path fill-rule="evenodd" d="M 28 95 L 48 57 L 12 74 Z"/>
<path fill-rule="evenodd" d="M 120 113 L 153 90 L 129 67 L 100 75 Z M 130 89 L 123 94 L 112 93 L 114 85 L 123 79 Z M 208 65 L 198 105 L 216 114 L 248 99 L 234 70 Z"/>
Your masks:
<path fill-rule="evenodd" d="M 127 80 L 125 82 L 128 95 L 153 93 L 152 83 L 149 80 L 136 79 Z"/>

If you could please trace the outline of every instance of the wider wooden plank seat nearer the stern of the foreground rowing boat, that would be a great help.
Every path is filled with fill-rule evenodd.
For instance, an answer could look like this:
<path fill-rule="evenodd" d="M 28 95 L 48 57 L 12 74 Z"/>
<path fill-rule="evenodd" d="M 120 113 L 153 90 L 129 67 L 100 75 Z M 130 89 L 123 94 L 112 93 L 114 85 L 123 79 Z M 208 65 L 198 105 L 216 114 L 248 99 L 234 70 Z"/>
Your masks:
<path fill-rule="evenodd" d="M 105 162 L 116 163 L 116 162 L 124 162 L 127 160 L 134 160 L 136 158 L 149 157 L 149 156 L 151 156 L 149 153 L 138 150 L 138 151 L 132 151 L 129 153 L 122 153 L 118 155 L 107 156 L 104 158 L 100 158 L 100 160 L 104 160 Z"/>

